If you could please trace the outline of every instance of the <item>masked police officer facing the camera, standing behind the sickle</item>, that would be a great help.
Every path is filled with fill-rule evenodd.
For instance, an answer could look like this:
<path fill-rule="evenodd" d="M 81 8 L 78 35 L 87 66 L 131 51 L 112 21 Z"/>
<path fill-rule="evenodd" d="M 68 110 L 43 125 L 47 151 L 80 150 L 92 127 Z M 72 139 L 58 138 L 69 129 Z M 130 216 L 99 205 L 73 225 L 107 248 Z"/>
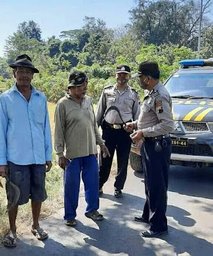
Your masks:
<path fill-rule="evenodd" d="M 101 154 L 99 171 L 99 194 L 103 193 L 102 187 L 107 182 L 112 166 L 114 152 L 117 152 L 117 175 L 114 183 L 115 197 L 122 196 L 122 189 L 126 180 L 131 138 L 125 131 L 123 124 L 136 120 L 140 113 L 138 93 L 128 85 L 130 68 L 119 65 L 115 70 L 117 83 L 104 88 L 98 102 L 96 120 L 103 130 L 103 140 L 110 151 L 110 157 Z M 117 109 L 114 109 L 117 107 Z"/>

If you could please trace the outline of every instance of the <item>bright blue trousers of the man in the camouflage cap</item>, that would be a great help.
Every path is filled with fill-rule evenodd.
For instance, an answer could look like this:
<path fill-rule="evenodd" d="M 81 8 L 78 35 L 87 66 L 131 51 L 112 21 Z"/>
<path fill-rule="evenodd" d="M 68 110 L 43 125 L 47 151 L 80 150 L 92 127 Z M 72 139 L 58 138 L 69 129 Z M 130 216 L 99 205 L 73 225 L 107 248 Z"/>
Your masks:
<path fill-rule="evenodd" d="M 78 207 L 80 173 L 84 182 L 86 212 L 98 210 L 98 161 L 94 155 L 68 159 L 64 171 L 64 220 L 74 220 Z"/>

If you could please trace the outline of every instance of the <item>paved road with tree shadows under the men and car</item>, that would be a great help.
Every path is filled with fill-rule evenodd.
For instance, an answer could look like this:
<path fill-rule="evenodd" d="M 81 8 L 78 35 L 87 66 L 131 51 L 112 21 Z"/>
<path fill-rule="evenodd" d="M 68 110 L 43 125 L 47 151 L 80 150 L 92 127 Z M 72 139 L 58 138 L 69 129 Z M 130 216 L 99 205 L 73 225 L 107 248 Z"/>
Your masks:
<path fill-rule="evenodd" d="M 63 209 L 41 221 L 49 238 L 42 242 L 32 234 L 17 241 L 17 248 L 0 248 L 1 256 L 212 256 L 213 255 L 213 169 L 172 166 L 168 191 L 169 234 L 144 238 L 139 231 L 149 227 L 136 223 L 145 202 L 144 180 L 129 168 L 123 198 L 113 196 L 114 177 L 107 182 L 100 199 L 105 220 L 95 223 L 84 216 L 80 197 L 77 227 L 64 225 Z"/>

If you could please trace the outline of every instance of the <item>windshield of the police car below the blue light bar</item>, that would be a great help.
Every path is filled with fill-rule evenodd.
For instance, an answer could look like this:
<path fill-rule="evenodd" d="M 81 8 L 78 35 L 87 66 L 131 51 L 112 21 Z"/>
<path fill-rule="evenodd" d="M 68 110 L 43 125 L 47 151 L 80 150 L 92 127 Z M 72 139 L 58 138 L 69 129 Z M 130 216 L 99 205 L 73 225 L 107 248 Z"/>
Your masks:
<path fill-rule="evenodd" d="M 175 98 L 212 98 L 213 73 L 173 74 L 165 88 Z"/>

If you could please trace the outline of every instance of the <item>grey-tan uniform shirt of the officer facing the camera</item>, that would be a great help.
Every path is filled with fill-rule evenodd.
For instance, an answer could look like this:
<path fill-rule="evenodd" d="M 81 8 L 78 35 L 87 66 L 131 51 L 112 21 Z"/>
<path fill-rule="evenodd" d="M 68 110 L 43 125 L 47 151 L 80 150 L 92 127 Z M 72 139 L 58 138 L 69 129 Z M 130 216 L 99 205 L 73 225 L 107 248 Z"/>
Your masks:
<path fill-rule="evenodd" d="M 101 125 L 103 118 L 109 124 L 122 124 L 122 120 L 116 110 L 112 109 L 105 115 L 105 112 L 111 106 L 116 106 L 119 109 L 124 122 L 128 122 L 131 119 L 136 120 L 140 113 L 138 93 L 130 86 L 126 86 L 123 92 L 119 92 L 116 84 L 105 87 L 96 110 L 98 126 Z"/>

